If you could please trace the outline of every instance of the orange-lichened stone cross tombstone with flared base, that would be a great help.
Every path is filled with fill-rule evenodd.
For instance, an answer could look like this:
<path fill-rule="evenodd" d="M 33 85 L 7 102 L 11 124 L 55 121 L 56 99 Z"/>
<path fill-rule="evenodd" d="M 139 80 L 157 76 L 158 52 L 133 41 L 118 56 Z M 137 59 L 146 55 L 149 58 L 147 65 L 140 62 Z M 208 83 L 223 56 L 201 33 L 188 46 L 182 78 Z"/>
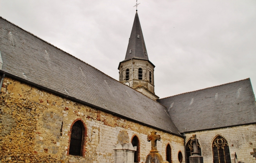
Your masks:
<path fill-rule="evenodd" d="M 157 150 L 156 142 L 157 140 L 161 140 L 160 135 L 156 135 L 156 132 L 151 132 L 150 135 L 148 135 L 148 141 L 151 141 L 151 150 L 150 153 L 146 157 L 145 163 L 168 163 L 163 161 L 163 157 L 160 155 L 160 153 Z"/>

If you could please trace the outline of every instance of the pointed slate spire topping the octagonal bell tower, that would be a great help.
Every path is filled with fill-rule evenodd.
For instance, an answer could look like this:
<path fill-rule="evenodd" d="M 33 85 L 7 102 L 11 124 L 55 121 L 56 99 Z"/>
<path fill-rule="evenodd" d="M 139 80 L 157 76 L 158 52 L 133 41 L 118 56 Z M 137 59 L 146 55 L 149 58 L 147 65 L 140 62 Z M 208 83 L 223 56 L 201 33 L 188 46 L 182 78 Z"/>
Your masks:
<path fill-rule="evenodd" d="M 128 48 L 124 61 L 129 59 L 142 59 L 148 61 L 147 49 L 137 11 L 135 14 L 132 33 L 129 38 Z"/>

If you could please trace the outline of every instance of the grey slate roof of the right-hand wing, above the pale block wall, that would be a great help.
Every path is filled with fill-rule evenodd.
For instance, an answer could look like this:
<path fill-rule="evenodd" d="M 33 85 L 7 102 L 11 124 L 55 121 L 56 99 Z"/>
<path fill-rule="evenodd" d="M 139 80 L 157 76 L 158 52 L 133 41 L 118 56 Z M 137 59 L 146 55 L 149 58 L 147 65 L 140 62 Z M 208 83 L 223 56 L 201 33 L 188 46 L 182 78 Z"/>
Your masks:
<path fill-rule="evenodd" d="M 256 123 L 250 79 L 157 100 L 180 133 Z"/>

